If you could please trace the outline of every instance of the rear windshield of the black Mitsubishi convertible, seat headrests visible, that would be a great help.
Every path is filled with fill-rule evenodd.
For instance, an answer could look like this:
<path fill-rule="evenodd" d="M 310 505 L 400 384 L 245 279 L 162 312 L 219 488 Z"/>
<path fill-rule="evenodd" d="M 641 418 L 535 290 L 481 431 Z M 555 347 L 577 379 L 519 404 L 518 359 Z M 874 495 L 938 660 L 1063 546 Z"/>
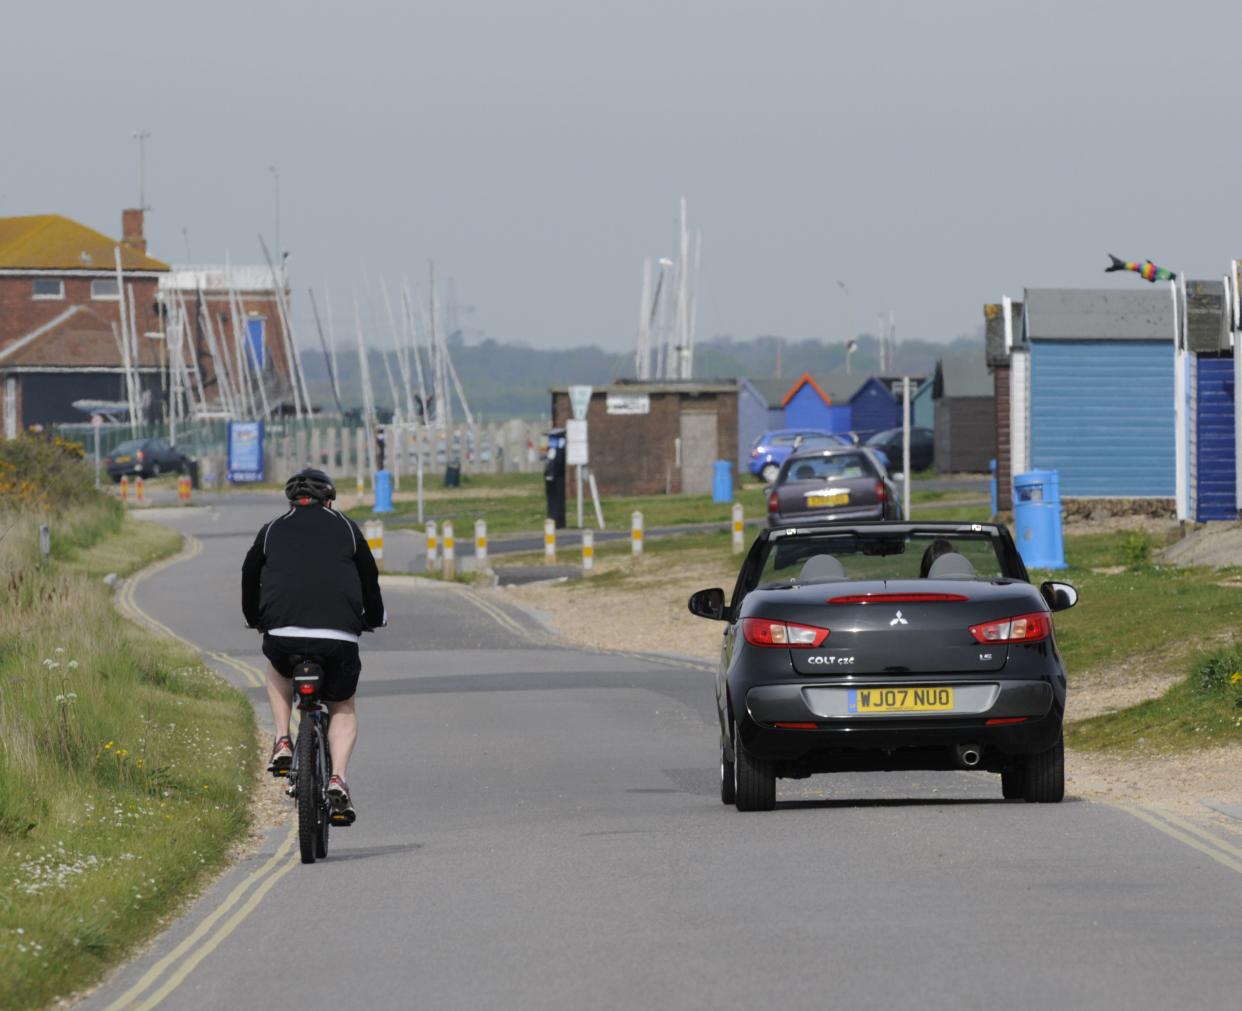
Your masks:
<path fill-rule="evenodd" d="M 1005 571 L 999 538 L 986 530 L 842 530 L 773 538 L 758 587 L 877 579 L 981 579 Z"/>

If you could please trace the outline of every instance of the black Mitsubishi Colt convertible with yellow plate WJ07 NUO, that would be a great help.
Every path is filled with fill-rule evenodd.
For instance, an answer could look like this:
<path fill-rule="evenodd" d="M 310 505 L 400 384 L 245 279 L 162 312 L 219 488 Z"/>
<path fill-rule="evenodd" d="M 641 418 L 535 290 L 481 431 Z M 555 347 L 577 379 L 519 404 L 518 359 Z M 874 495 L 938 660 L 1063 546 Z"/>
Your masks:
<path fill-rule="evenodd" d="M 727 622 L 717 709 L 720 799 L 768 811 L 776 779 L 979 769 L 1006 799 L 1064 795 L 1066 672 L 1052 612 L 1009 530 L 981 523 L 833 523 L 764 530 Z"/>

